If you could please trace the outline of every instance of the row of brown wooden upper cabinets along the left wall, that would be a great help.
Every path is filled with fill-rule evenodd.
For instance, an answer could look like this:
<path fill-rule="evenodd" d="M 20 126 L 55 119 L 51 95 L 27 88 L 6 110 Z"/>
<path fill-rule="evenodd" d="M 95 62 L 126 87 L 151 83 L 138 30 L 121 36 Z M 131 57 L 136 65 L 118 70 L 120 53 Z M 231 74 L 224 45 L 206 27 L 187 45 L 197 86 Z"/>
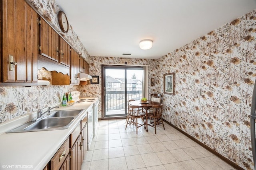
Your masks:
<path fill-rule="evenodd" d="M 79 84 L 79 72 L 88 73 L 89 64 L 42 15 L 26 0 L 1 0 L 0 7 L 0 86 L 37 85 L 37 69 L 43 67 L 65 75 L 64 85 Z"/>

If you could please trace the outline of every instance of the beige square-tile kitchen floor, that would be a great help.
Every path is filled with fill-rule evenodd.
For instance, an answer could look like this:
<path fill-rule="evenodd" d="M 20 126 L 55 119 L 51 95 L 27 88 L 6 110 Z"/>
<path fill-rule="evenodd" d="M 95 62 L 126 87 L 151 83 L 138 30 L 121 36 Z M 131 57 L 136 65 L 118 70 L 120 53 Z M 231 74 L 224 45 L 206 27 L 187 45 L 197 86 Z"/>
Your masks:
<path fill-rule="evenodd" d="M 99 121 L 82 170 L 233 170 L 167 123 L 148 132 L 125 119 Z"/>

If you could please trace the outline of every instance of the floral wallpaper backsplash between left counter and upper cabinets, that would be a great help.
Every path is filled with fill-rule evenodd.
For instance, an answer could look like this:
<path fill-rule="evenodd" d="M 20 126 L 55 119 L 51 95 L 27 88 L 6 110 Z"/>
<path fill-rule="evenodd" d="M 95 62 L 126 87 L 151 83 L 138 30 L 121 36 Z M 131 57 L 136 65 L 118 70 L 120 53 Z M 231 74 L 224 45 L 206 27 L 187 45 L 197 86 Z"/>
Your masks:
<path fill-rule="evenodd" d="M 51 72 L 42 68 L 38 77 L 51 82 Z M 78 90 L 78 86 L 0 87 L 0 123 L 52 106 L 62 101 L 63 93 Z"/>

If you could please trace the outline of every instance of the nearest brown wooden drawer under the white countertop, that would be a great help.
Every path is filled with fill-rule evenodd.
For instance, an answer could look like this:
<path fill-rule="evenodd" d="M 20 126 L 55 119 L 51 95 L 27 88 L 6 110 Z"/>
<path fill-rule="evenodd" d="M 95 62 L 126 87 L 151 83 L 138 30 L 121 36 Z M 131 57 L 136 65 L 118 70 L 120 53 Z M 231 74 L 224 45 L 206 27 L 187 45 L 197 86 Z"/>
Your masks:
<path fill-rule="evenodd" d="M 66 157 L 69 155 L 69 138 L 62 144 L 60 149 L 50 160 L 50 169 L 59 170 Z"/>

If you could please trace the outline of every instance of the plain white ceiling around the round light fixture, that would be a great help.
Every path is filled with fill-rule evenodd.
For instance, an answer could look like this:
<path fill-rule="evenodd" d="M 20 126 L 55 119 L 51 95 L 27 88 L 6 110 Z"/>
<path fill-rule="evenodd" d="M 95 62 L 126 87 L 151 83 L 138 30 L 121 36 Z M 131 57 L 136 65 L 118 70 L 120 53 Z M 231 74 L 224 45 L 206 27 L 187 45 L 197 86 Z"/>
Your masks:
<path fill-rule="evenodd" d="M 256 0 L 56 2 L 90 56 L 143 59 L 158 59 L 256 9 Z M 152 39 L 153 47 L 140 49 L 142 39 Z"/>

